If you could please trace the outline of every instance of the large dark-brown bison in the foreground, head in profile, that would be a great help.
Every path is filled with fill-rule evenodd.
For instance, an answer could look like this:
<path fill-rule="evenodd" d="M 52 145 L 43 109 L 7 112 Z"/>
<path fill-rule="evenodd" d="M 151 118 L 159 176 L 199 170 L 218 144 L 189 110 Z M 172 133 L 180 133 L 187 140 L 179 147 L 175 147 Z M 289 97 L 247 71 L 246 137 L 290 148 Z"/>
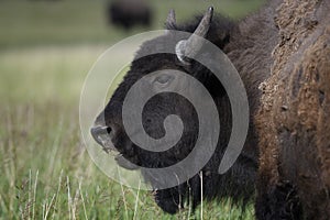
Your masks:
<path fill-rule="evenodd" d="M 234 201 L 255 199 L 257 219 L 329 219 L 329 9 L 326 0 L 274 0 L 241 21 L 220 14 L 212 16 L 212 8 L 186 24 L 177 24 L 173 11 L 168 14 L 167 30 L 195 33 L 212 42 L 228 55 L 246 88 L 249 133 L 242 153 L 227 173 L 219 174 L 218 167 L 232 128 L 230 100 L 223 85 L 208 68 L 185 56 L 199 52 L 200 45 L 194 45 L 193 35 L 179 44 L 167 32 L 141 46 L 139 58 L 132 62 L 96 119 L 92 136 L 106 151 L 110 148 L 107 143 L 113 143 L 120 153 L 118 164 L 130 169 L 136 165 L 162 168 L 186 157 L 198 134 L 198 116 L 186 99 L 161 94 L 143 109 L 143 128 L 155 139 L 164 136 L 162 125 L 167 116 L 182 118 L 182 139 L 165 152 L 139 147 L 122 123 L 123 101 L 135 81 L 155 70 L 184 72 L 202 82 L 212 96 L 220 112 L 221 131 L 212 157 L 186 183 L 158 189 L 158 183 L 166 179 L 143 172 L 154 188 L 156 204 L 175 213 L 185 200 L 196 208 L 201 198 L 232 197 Z M 168 38 L 169 45 L 162 44 Z M 169 47 L 173 53 L 139 56 L 155 46 Z M 175 77 L 161 74 L 150 84 L 166 87 Z"/>

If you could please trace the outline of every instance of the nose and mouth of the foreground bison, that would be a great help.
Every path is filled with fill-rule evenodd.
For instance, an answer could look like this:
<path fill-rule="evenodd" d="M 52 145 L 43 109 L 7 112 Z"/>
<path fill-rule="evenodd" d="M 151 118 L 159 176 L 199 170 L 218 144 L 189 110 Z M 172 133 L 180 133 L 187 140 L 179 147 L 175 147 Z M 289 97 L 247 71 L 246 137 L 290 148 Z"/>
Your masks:
<path fill-rule="evenodd" d="M 113 154 L 117 164 L 123 168 L 133 170 L 139 166 L 132 163 L 133 158 L 125 158 L 125 156 L 114 147 L 109 127 L 94 127 L 90 129 L 91 136 L 102 147 L 107 154 Z"/>

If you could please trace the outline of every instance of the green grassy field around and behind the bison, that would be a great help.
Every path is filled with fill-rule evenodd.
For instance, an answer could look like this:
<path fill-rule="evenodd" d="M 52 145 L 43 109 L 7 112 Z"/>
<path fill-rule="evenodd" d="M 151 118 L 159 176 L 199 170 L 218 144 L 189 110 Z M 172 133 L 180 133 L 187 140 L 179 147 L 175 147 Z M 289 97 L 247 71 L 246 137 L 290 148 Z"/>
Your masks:
<path fill-rule="evenodd" d="M 213 3 L 242 16 L 260 0 L 150 0 L 161 29 L 169 8 L 178 20 Z M 106 1 L 0 1 L 0 219 L 238 219 L 230 199 L 164 215 L 151 193 L 109 179 L 90 160 L 80 136 L 84 79 L 111 44 L 145 30 L 114 30 Z M 194 8 L 191 8 L 194 6 Z M 243 213 L 253 219 L 253 206 Z"/>

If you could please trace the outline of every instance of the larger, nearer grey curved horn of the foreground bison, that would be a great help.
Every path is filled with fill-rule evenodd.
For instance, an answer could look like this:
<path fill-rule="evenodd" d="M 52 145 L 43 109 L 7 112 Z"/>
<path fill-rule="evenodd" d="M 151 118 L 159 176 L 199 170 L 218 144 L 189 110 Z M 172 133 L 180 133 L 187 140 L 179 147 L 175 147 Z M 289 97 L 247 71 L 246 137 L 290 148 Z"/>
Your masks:
<path fill-rule="evenodd" d="M 184 64 L 189 64 L 186 59 L 187 57 L 194 57 L 196 54 L 198 54 L 199 50 L 202 46 L 202 41 L 200 41 L 199 37 L 206 37 L 209 28 L 211 25 L 213 16 L 213 8 L 210 7 L 204 18 L 201 19 L 199 25 L 195 30 L 194 34 L 188 40 L 179 41 L 176 44 L 175 53 L 178 59 Z"/>

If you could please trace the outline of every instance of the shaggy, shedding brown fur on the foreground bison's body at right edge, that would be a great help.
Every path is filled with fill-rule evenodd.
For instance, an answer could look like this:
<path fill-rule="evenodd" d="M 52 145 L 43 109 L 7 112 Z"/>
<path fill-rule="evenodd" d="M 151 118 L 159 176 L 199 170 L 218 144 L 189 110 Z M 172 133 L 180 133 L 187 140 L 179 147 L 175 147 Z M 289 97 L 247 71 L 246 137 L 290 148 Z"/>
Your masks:
<path fill-rule="evenodd" d="M 256 116 L 258 219 L 301 218 L 292 215 L 300 205 L 306 219 L 330 219 L 329 11 L 326 0 L 286 0 L 278 8 L 280 41 Z"/>

